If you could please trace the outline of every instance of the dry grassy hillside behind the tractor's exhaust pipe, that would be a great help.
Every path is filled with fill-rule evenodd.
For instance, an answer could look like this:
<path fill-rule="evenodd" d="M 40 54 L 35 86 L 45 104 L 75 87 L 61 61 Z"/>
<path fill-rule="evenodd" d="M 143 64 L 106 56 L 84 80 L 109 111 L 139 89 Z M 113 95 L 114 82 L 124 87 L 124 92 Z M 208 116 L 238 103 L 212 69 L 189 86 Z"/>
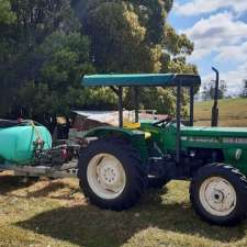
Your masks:
<path fill-rule="evenodd" d="M 213 101 L 195 103 L 195 125 L 211 124 Z M 220 125 L 247 127 L 247 98 L 224 99 L 218 101 Z"/>

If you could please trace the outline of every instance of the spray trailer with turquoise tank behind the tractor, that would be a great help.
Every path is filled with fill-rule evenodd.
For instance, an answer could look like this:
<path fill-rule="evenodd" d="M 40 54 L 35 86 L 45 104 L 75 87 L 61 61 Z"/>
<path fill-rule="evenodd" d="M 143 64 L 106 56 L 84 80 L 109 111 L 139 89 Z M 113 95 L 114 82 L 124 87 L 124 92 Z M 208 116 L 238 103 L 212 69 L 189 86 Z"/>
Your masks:
<path fill-rule="evenodd" d="M 20 177 L 75 177 L 79 145 L 53 146 L 48 130 L 33 121 L 0 120 L 0 171 Z"/>

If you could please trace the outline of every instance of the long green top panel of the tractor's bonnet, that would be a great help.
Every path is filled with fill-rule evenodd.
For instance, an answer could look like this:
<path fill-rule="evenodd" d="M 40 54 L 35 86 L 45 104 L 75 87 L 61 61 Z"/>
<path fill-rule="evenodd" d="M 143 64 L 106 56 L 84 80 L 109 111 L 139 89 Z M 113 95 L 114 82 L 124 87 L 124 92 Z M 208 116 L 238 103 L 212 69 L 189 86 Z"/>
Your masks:
<path fill-rule="evenodd" d="M 182 136 L 244 137 L 247 141 L 246 127 L 181 127 Z"/>

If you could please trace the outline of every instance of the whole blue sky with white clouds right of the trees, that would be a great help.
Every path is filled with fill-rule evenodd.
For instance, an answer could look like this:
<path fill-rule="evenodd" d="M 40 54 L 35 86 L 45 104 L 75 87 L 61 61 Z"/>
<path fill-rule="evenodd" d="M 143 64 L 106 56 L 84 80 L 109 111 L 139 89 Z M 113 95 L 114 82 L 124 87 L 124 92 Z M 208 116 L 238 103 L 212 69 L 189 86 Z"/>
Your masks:
<path fill-rule="evenodd" d="M 247 79 L 247 0 L 175 0 L 168 21 L 194 43 L 188 61 L 202 81 L 214 79 L 214 66 L 227 93 L 239 93 Z"/>

